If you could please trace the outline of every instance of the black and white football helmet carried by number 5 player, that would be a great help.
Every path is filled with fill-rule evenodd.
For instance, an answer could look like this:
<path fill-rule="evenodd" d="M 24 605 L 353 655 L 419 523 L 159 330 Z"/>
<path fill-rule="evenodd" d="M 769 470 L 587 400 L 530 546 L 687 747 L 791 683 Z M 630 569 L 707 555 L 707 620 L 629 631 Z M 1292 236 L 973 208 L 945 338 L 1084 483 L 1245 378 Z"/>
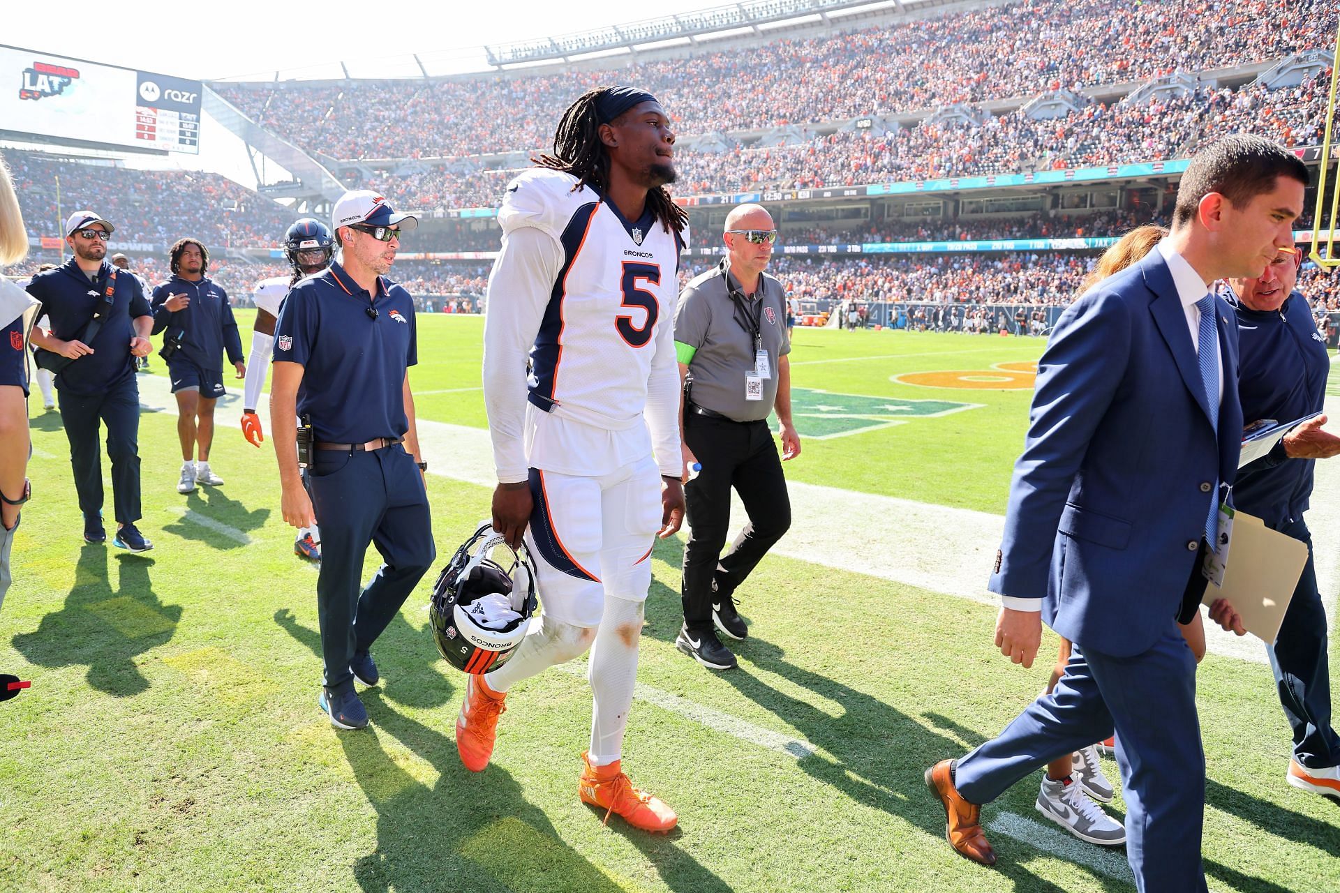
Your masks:
<path fill-rule="evenodd" d="M 511 568 L 492 557 L 498 548 L 512 553 Z M 457 669 L 473 675 L 497 669 L 525 639 L 537 604 L 535 566 L 525 546 L 513 550 L 484 523 L 456 550 L 433 585 L 433 641 Z"/>

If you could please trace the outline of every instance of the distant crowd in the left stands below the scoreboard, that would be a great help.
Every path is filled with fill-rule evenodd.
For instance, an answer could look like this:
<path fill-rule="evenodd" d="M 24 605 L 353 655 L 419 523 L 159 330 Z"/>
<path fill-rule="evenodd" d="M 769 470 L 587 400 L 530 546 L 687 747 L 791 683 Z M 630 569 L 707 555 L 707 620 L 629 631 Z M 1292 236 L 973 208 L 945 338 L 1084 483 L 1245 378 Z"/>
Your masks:
<path fill-rule="evenodd" d="M 221 248 L 271 246 L 292 222 L 287 208 L 220 174 L 130 170 L 12 149 L 0 154 L 13 174 L 34 240 L 55 236 L 62 212 L 78 208 L 98 208 L 117 221 L 119 242 L 165 249 L 188 232 Z"/>

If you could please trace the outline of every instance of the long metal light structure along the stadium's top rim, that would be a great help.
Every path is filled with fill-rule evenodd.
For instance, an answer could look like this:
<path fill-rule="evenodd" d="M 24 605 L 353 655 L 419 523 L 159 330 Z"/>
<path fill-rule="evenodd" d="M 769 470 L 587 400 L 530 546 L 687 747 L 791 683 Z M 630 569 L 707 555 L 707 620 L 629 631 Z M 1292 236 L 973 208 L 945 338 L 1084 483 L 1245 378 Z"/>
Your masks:
<path fill-rule="evenodd" d="M 906 1 L 913 3 L 913 0 Z M 761 33 L 758 25 L 765 23 L 809 16 L 824 17 L 828 12 L 871 5 L 887 7 L 888 3 L 887 0 L 746 0 L 595 31 L 484 47 L 484 52 L 488 63 L 496 68 L 549 60 L 567 62 L 574 56 L 588 56 L 675 37 L 693 39 L 728 29 L 748 28 Z M 898 0 L 895 5 L 902 8 L 904 1 Z"/>

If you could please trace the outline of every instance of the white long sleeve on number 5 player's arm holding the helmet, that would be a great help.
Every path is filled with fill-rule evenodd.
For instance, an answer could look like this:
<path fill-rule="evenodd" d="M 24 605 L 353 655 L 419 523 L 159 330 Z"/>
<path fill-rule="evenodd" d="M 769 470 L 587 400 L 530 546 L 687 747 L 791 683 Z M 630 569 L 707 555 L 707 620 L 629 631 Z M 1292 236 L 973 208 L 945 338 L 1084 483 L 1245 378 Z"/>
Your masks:
<path fill-rule="evenodd" d="M 561 268 L 559 241 L 533 226 L 520 226 L 503 237 L 503 250 L 489 274 L 484 312 L 484 407 L 498 483 L 519 483 L 529 475 L 523 439 L 525 357 L 540 332 L 544 308 Z"/>

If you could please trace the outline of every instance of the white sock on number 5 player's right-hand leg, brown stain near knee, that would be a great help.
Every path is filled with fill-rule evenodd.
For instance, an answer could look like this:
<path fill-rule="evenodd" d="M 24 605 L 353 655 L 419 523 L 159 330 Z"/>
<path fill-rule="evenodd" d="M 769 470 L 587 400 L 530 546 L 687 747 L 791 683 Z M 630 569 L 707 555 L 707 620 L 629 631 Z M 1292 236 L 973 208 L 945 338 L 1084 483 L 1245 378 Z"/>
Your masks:
<path fill-rule="evenodd" d="M 595 707 L 591 711 L 592 766 L 608 766 L 623 754 L 632 688 L 638 681 L 638 644 L 645 602 L 606 594 L 604 615 L 596 628 L 587 680 Z"/>

